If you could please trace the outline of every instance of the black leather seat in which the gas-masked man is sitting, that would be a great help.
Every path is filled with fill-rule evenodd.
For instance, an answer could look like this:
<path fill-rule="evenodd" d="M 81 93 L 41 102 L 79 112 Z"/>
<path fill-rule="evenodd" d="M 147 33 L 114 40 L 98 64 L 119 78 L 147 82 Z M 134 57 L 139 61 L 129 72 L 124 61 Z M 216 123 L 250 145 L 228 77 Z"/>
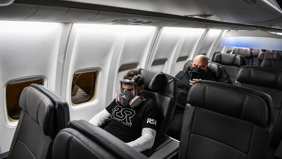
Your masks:
<path fill-rule="evenodd" d="M 171 155 L 172 152 L 176 152 L 178 150 L 179 143 L 167 138 L 165 136 L 165 132 L 167 131 L 175 109 L 177 92 L 176 79 L 174 76 L 163 72 L 141 68 L 135 70 L 140 72 L 140 75 L 145 78 L 145 97 L 149 97 L 154 100 L 160 112 L 159 121 L 157 121 L 158 130 L 154 145 L 151 149 L 145 150 L 142 153 L 146 156 L 150 156 L 152 153 L 158 151 L 163 145 L 168 144 L 173 146 L 170 147 L 169 151 L 162 152 L 162 156 L 164 156 L 165 153 L 168 153 L 167 155 Z M 155 155 L 157 155 L 160 151 L 155 153 Z"/>

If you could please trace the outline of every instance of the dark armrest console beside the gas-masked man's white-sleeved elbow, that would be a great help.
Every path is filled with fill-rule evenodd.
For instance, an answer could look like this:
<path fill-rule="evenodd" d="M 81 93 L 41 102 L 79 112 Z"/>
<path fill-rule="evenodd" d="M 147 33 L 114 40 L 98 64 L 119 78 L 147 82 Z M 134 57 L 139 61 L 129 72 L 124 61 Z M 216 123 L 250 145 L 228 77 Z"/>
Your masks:
<path fill-rule="evenodd" d="M 152 148 L 141 153 L 150 159 L 168 159 L 177 154 L 178 148 L 179 141 L 165 135 L 157 139 Z"/>

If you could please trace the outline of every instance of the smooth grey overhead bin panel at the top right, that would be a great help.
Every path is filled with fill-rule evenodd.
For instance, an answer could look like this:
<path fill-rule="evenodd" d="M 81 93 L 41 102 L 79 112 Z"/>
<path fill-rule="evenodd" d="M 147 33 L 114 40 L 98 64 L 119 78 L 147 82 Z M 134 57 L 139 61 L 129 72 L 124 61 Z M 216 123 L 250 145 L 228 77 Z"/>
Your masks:
<path fill-rule="evenodd" d="M 61 0 L 113 6 L 178 16 L 197 17 L 228 23 L 254 24 L 282 16 L 281 9 L 268 0 Z"/>

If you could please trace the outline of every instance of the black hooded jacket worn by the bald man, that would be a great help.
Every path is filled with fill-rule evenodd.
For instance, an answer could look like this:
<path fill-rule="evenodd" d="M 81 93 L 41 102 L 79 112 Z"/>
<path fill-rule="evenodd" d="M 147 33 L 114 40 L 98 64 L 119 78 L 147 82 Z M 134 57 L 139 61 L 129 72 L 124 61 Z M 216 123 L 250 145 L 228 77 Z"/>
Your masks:
<path fill-rule="evenodd" d="M 178 72 L 175 76 L 177 82 L 177 100 L 174 112 L 184 112 L 185 105 L 187 104 L 187 95 L 192 87 L 189 83 L 191 79 L 191 66 L 188 69 Z M 208 69 L 204 77 L 200 77 L 202 80 L 217 81 L 215 72 L 212 69 Z"/>

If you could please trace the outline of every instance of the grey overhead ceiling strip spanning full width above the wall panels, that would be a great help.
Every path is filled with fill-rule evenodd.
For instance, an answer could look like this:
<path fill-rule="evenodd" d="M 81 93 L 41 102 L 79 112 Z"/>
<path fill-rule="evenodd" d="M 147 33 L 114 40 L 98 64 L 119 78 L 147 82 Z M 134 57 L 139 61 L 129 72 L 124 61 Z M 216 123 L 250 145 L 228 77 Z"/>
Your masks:
<path fill-rule="evenodd" d="M 282 29 L 282 11 L 272 0 L 15 0 L 0 6 L 0 20 Z"/>

